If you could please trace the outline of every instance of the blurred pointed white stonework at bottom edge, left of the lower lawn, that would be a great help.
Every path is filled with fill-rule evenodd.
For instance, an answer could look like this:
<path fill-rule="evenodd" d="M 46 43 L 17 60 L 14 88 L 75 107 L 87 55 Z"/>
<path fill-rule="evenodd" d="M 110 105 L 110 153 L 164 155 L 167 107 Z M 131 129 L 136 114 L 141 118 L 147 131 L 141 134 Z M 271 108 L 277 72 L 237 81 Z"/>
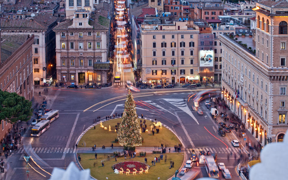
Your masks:
<path fill-rule="evenodd" d="M 75 163 L 71 162 L 66 170 L 55 167 L 49 180 L 90 180 L 90 169 L 79 170 Z"/>

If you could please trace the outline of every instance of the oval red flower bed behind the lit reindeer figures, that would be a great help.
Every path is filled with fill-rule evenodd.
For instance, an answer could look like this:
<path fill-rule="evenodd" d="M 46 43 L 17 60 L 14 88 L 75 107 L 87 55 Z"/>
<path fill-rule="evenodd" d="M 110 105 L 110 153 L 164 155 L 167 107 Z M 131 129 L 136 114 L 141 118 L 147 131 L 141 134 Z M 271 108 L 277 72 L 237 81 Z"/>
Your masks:
<path fill-rule="evenodd" d="M 141 171 L 140 168 L 142 168 L 143 170 L 146 170 L 147 167 L 148 167 L 148 169 L 150 168 L 150 166 L 148 164 L 141 163 L 138 161 L 124 161 L 124 162 L 114 164 L 112 166 L 113 170 L 117 169 L 119 171 L 120 168 L 123 168 L 124 172 L 126 172 L 127 169 L 129 169 L 130 173 L 133 173 L 134 168 L 137 170 L 137 173 L 139 173 L 139 171 Z"/>

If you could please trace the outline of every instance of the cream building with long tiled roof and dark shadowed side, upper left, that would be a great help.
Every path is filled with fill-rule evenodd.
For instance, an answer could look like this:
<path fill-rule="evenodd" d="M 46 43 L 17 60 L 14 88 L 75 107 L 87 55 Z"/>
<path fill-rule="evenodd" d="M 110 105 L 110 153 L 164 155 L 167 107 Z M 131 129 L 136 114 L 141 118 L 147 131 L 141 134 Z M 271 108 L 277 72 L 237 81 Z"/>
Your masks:
<path fill-rule="evenodd" d="M 52 31 L 58 18 L 47 13 L 38 13 L 30 19 L 2 19 L 2 35 L 34 35 L 32 45 L 33 84 L 44 85 L 52 81 L 56 71 L 55 32 Z"/>

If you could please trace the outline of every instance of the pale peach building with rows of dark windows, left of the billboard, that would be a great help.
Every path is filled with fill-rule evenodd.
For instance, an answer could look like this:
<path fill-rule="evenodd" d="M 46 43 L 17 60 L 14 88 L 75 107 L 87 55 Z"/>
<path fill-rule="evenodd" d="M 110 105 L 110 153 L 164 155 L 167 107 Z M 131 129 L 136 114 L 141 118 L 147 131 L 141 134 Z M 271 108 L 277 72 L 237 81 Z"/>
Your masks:
<path fill-rule="evenodd" d="M 193 21 L 192 21 L 193 23 Z M 196 27 L 196 26 L 195 26 Z M 141 24 L 142 79 L 147 83 L 199 80 L 198 35 L 188 22 Z"/>

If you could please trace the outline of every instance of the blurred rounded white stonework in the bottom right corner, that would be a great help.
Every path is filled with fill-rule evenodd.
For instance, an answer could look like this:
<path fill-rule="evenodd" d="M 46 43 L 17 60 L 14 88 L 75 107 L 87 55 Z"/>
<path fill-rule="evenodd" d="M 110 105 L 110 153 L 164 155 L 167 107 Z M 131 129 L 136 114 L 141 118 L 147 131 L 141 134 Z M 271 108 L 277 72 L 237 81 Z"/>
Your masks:
<path fill-rule="evenodd" d="M 286 131 L 286 134 L 288 130 Z M 249 173 L 250 180 L 287 180 L 288 137 L 281 143 L 270 143 L 262 149 L 261 163 L 255 164 Z"/>

